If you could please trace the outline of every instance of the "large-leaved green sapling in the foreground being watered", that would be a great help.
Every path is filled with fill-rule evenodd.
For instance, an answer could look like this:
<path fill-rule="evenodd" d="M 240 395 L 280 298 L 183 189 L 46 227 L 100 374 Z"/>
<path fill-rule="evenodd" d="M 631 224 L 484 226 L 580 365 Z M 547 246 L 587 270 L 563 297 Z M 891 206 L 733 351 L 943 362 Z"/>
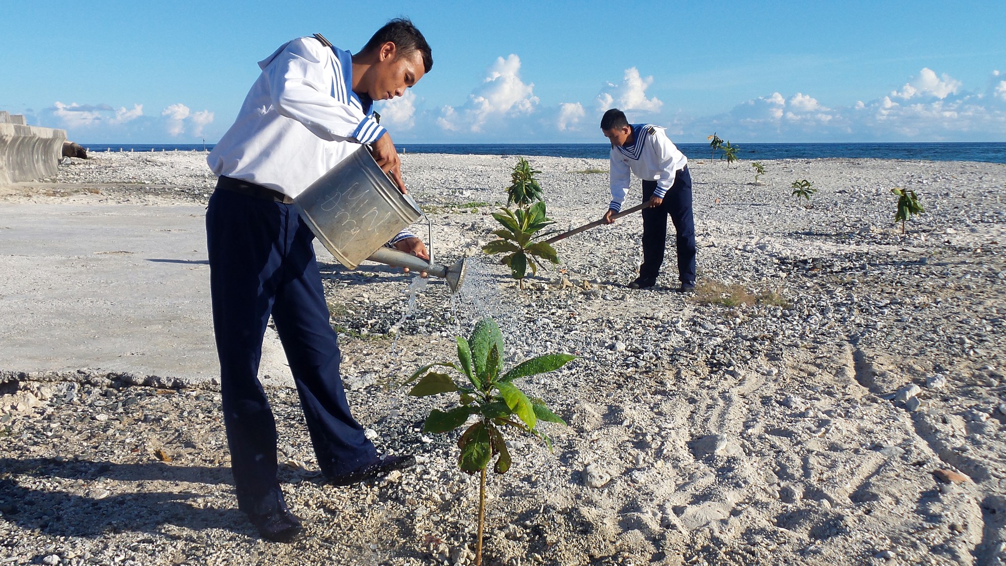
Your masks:
<path fill-rule="evenodd" d="M 549 353 L 526 360 L 509 372 L 503 372 L 503 333 L 491 317 L 475 324 L 472 335 L 466 340 L 457 336 L 458 363 L 438 362 L 420 368 L 408 383 L 415 382 L 408 395 L 427 397 L 442 393 L 459 394 L 458 406 L 448 411 L 434 409 L 423 425 L 428 433 L 446 433 L 468 424 L 475 415 L 478 419 L 465 428 L 458 439 L 461 453 L 458 467 L 470 474 L 479 473 L 479 534 L 475 550 L 475 564 L 482 564 L 482 534 L 486 521 L 486 467 L 496 457 L 493 471 L 505 473 L 513 463 L 503 432 L 515 430 L 541 440 L 549 451 L 551 440 L 538 429 L 540 421 L 565 424 L 558 416 L 536 398 L 528 397 L 514 380 L 558 370 L 575 359 L 566 353 Z M 432 370 L 435 367 L 451 368 L 467 379 L 458 385 L 448 374 Z M 421 377 L 422 376 L 422 377 Z"/>

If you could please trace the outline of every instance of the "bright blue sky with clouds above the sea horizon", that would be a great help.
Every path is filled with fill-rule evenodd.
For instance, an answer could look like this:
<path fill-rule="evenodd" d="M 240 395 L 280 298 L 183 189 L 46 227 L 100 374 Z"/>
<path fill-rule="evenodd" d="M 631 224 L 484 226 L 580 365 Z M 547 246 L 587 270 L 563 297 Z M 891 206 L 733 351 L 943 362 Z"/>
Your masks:
<path fill-rule="evenodd" d="M 434 67 L 380 102 L 397 143 L 1006 141 L 1006 2 L 0 0 L 0 110 L 80 143 L 213 143 L 258 60 L 356 51 L 407 16 Z"/>

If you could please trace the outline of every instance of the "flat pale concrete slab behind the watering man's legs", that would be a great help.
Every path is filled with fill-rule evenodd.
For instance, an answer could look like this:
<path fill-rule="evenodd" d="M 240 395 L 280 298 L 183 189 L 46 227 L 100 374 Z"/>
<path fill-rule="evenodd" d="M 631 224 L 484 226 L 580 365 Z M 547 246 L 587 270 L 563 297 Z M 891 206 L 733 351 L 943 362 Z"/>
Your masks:
<path fill-rule="evenodd" d="M 0 370 L 215 379 L 204 215 L 189 205 L 0 206 Z M 273 330 L 260 376 L 292 384 Z"/>

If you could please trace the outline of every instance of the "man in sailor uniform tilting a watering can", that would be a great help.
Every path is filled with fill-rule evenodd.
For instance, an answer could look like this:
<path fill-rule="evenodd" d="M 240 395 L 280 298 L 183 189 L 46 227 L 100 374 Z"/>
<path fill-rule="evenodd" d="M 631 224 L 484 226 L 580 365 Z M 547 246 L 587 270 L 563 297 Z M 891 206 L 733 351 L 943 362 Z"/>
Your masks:
<path fill-rule="evenodd" d="M 290 542 L 303 527 L 280 489 L 276 422 L 258 379 L 270 315 L 326 480 L 348 485 L 414 463 L 412 456 L 379 457 L 350 412 L 314 235 L 292 203 L 361 144 L 405 192 L 391 136 L 371 106 L 402 96 L 430 72 L 433 55 L 409 20 L 393 19 L 358 53 L 315 35 L 285 43 L 259 66 L 237 119 L 206 159 L 219 177 L 206 210 L 206 239 L 238 508 L 264 538 Z M 429 259 L 411 235 L 391 243 Z"/>

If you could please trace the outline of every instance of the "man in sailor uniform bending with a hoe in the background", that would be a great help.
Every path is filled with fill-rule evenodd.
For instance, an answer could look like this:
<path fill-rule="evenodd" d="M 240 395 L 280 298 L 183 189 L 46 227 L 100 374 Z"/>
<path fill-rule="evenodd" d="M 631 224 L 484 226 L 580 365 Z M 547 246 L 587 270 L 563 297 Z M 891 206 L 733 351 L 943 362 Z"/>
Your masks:
<path fill-rule="evenodd" d="M 601 119 L 601 131 L 612 142 L 612 201 L 602 218 L 605 224 L 622 210 L 635 173 L 643 180 L 643 265 L 631 289 L 657 284 L 667 243 L 667 217 L 677 231 L 679 291 L 695 290 L 695 224 L 692 219 L 691 174 L 688 158 L 671 143 L 664 129 L 651 124 L 630 124 L 626 115 L 613 108 Z"/>

